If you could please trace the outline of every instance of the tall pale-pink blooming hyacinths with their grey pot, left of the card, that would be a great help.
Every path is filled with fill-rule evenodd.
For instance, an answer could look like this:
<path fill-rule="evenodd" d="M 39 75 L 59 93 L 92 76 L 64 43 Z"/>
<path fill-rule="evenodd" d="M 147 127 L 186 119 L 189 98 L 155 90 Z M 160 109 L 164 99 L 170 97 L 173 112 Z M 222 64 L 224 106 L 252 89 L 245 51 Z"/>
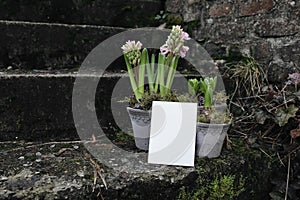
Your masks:
<path fill-rule="evenodd" d="M 158 55 L 149 55 L 146 48 L 142 49 L 140 41 L 129 40 L 121 47 L 134 93 L 127 111 L 139 149 L 148 150 L 149 147 L 152 101 L 178 101 L 171 86 L 178 60 L 184 58 L 189 50 L 184 46 L 189 39 L 180 26 L 173 26 Z"/>

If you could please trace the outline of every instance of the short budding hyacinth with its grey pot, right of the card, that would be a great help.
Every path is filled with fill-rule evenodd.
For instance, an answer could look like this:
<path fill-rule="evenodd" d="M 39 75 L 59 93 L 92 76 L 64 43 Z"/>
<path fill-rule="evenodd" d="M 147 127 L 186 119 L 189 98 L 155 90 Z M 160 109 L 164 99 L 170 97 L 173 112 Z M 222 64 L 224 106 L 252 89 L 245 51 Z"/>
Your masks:
<path fill-rule="evenodd" d="M 204 95 L 203 106 L 198 109 L 196 155 L 215 158 L 221 153 L 225 136 L 231 124 L 231 114 L 226 109 L 224 92 L 215 92 L 217 77 L 188 81 L 189 91 Z M 202 105 L 202 103 L 200 102 Z M 225 104 L 225 105 L 224 105 Z"/>

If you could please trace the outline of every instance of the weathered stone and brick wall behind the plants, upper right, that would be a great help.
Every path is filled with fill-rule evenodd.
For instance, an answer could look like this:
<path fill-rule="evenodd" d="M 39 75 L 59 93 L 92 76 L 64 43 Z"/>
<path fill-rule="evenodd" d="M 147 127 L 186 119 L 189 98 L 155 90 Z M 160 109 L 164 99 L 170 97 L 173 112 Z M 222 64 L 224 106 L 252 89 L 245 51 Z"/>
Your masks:
<path fill-rule="evenodd" d="M 214 59 L 250 54 L 270 82 L 299 71 L 299 1 L 167 0 L 166 11 L 181 16 Z"/>

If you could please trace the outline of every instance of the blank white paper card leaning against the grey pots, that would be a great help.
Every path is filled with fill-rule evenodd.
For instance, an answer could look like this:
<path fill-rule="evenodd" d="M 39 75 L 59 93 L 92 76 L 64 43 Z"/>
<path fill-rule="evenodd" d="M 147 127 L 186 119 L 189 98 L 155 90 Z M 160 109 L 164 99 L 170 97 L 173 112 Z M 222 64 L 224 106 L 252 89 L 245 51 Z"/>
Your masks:
<path fill-rule="evenodd" d="M 153 101 L 148 163 L 194 166 L 197 104 Z"/>

